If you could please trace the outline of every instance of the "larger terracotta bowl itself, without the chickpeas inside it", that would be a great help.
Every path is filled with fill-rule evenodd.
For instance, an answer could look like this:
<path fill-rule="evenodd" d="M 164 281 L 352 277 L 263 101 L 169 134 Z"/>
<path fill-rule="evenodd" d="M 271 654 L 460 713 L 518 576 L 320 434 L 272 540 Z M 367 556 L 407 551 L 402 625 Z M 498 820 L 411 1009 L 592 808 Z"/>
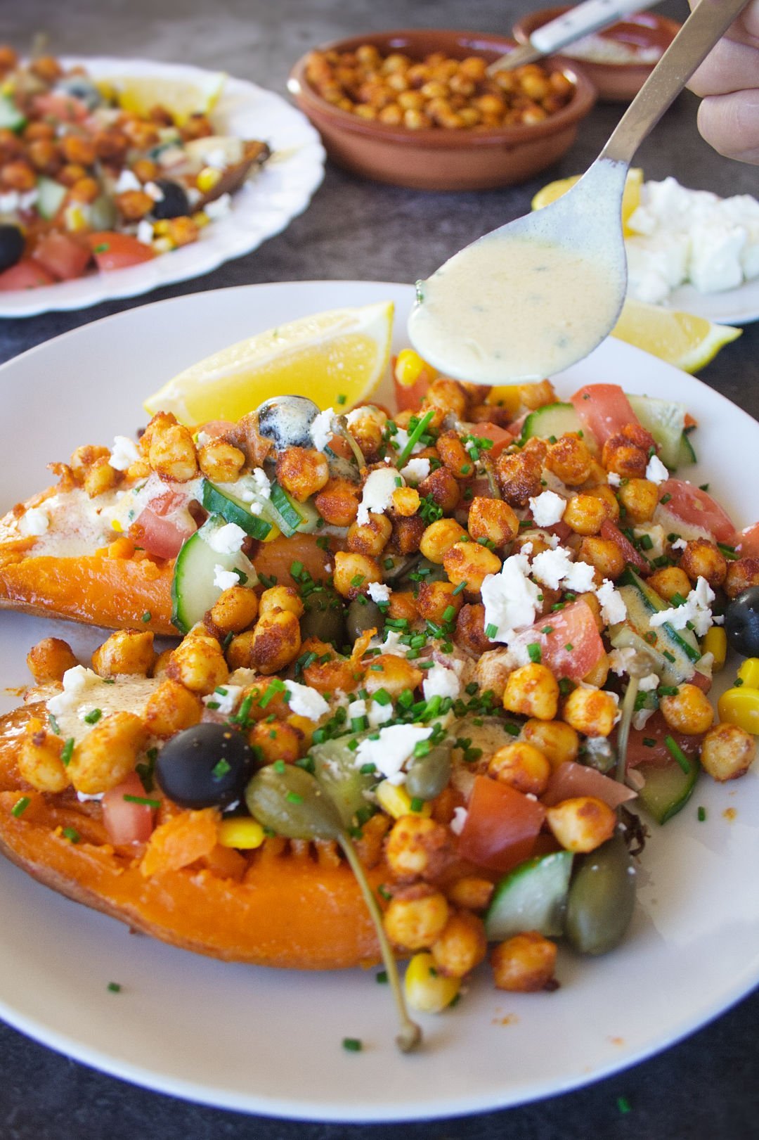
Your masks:
<path fill-rule="evenodd" d="M 352 51 L 362 43 L 382 54 L 402 51 L 422 59 L 442 51 L 456 59 L 482 56 L 488 63 L 506 55 L 514 41 L 480 32 L 398 31 L 353 35 L 318 50 Z M 565 107 L 544 122 L 482 131 L 429 128 L 408 130 L 359 119 L 332 106 L 305 79 L 308 55 L 293 67 L 287 83 L 299 107 L 321 133 L 329 157 L 379 182 L 419 190 L 484 190 L 524 182 L 570 148 L 578 125 L 595 101 L 595 89 L 579 67 L 555 57 L 574 87 Z"/>

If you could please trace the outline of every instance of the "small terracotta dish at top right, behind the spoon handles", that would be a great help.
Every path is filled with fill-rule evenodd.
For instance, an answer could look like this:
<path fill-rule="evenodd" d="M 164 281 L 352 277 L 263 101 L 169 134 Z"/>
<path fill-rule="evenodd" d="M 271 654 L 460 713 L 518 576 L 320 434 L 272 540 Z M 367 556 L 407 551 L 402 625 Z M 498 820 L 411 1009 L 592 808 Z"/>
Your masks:
<path fill-rule="evenodd" d="M 520 43 L 527 43 L 537 28 L 548 24 L 557 16 L 569 11 L 570 6 L 560 8 L 541 8 L 523 16 L 514 24 L 514 38 Z M 637 11 L 625 19 L 598 32 L 604 39 L 615 40 L 628 48 L 661 48 L 662 52 L 670 46 L 680 30 L 680 24 L 651 11 Z M 568 58 L 568 57 L 564 57 Z M 574 60 L 572 59 L 572 63 Z M 578 59 L 588 79 L 598 91 L 598 98 L 605 103 L 629 103 L 638 93 L 655 63 L 610 64 L 591 63 L 589 59 Z"/>

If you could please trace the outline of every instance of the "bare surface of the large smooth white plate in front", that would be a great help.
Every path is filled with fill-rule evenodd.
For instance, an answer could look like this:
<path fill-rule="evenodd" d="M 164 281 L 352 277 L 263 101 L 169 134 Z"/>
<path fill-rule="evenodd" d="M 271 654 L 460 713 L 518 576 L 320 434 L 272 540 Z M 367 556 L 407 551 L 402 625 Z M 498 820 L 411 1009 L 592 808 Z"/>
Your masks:
<path fill-rule="evenodd" d="M 2 505 L 44 486 L 44 464 L 144 422 L 140 399 L 193 360 L 294 317 L 394 299 L 405 343 L 409 286 L 252 285 L 145 306 L 26 352 L 0 369 Z M 146 351 L 145 347 L 150 345 Z M 687 402 L 709 479 L 737 522 L 756 518 L 746 457 L 759 425 L 711 389 L 619 341 L 558 381 L 618 381 Z M 32 430 L 32 426 L 33 430 Z M 729 438 L 731 446 L 725 446 Z M 41 636 L 98 636 L 0 614 L 0 685 L 24 682 Z M 101 638 L 100 638 L 101 640 Z M 2 708 L 13 706 L 3 698 Z M 707 808 L 699 823 L 697 805 Z M 723 813 L 735 808 L 729 823 Z M 229 966 L 132 937 L 0 861 L 0 1013 L 39 1041 L 116 1076 L 190 1100 L 304 1119 L 448 1116 L 577 1088 L 663 1049 L 759 979 L 759 779 L 708 779 L 653 834 L 623 946 L 599 960 L 562 951 L 553 994 L 509 995 L 483 968 L 460 1004 L 424 1017 L 414 1057 L 393 1048 L 393 1010 L 374 971 L 297 974 Z M 109 993 L 108 982 L 122 985 Z M 346 1053 L 345 1036 L 365 1049 Z"/>

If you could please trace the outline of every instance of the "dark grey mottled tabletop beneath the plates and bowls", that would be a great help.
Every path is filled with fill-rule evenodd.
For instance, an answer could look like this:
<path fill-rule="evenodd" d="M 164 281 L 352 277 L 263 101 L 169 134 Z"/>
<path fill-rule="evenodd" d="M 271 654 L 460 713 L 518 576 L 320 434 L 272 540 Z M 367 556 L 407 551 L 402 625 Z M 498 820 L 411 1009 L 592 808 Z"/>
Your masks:
<path fill-rule="evenodd" d="M 21 49 L 47 31 L 58 52 L 188 60 L 284 92 L 289 64 L 325 40 L 385 27 L 507 31 L 532 2 L 480 0 L 5 0 L 0 41 Z M 684 18 L 685 0 L 660 10 Z M 695 129 L 696 103 L 683 96 L 638 156 L 648 178 L 675 174 L 721 194 L 757 193 L 756 168 L 720 158 Z M 0 359 L 123 308 L 183 292 L 250 282 L 365 278 L 410 282 L 456 249 L 529 207 L 549 178 L 577 173 L 595 157 L 619 108 L 596 107 L 565 158 L 522 187 L 483 194 L 422 194 L 362 181 L 329 168 L 311 207 L 255 253 L 181 286 L 134 301 L 28 320 L 0 320 Z M 749 326 L 702 378 L 759 417 L 759 324 Z M 756 469 L 756 459 L 753 461 Z M 191 995 L 188 995 L 191 1001 Z M 0 1137 L 3 1140 L 712 1140 L 759 1137 L 759 995 L 744 1000 L 685 1042 L 627 1073 L 534 1105 L 457 1121 L 410 1125 L 296 1124 L 244 1117 L 133 1089 L 95 1073 L 0 1025 Z M 117 1034 L 114 1025 L 114 1034 Z M 557 1025 L 557 1034 L 571 1034 Z M 251 1042 L 266 1048 L 259 1034 Z M 631 1112 L 620 1113 L 618 1098 Z"/>

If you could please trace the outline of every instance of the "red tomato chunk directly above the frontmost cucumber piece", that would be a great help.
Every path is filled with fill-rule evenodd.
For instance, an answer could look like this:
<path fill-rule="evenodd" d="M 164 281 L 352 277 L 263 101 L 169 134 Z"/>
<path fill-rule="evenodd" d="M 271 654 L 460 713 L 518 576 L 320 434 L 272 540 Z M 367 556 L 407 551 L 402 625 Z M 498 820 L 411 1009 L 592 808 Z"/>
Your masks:
<path fill-rule="evenodd" d="M 511 871 L 532 854 L 545 817 L 537 800 L 489 776 L 475 776 L 458 854 L 491 871 Z"/>

